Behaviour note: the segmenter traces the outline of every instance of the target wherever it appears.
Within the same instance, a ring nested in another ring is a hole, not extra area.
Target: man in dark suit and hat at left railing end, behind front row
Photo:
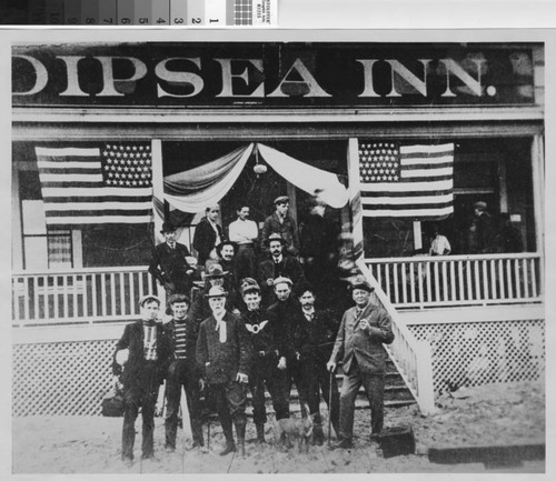
[[[166,241],[155,248],[149,272],[165,287],[168,297],[177,292],[189,294],[193,273],[193,268],[187,261],[189,249],[176,241],[176,227],[172,223],[165,222],[160,232]]]

